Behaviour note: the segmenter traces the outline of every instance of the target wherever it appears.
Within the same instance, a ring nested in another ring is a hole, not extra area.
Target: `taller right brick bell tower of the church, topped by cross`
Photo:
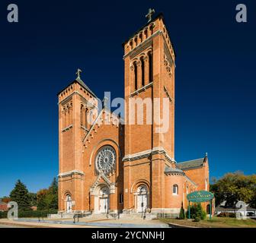
[[[164,17],[123,43],[126,101],[124,209],[162,212],[165,166],[174,166],[175,55]],[[139,188],[143,187],[143,193]],[[145,192],[146,191],[146,192]],[[143,199],[140,193],[146,194]]]

